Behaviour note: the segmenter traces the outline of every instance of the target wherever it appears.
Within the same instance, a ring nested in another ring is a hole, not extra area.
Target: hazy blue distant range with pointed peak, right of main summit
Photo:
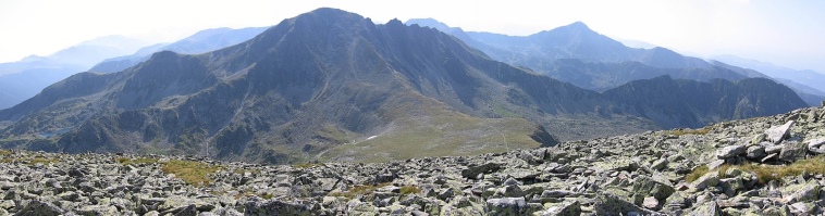
[[[812,88],[825,84],[822,82],[825,81],[825,76],[818,73],[753,66],[754,64],[742,64],[744,61],[732,61],[731,58],[724,56],[717,59],[728,61],[709,62],[699,58],[684,56],[660,47],[629,48],[593,31],[581,22],[529,36],[464,31],[461,28],[450,27],[432,18],[414,18],[407,21],[406,24],[440,29],[490,54],[495,60],[528,67],[555,79],[595,91],[604,91],[631,80],[662,75],[699,81],[715,78],[736,81],[749,77],[762,77],[790,86],[809,105],[818,105],[825,100],[825,93],[822,90]]]

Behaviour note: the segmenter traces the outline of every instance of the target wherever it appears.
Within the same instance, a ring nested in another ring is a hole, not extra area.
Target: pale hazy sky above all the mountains
[[[611,37],[712,56],[825,72],[825,1],[2,0],[0,62],[49,55],[99,36],[173,41],[216,27],[275,25],[321,7],[374,22],[432,17],[465,30],[530,35],[584,22]]]

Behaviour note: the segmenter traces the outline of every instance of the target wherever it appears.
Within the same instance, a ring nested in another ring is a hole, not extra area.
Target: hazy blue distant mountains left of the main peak
[[[266,27],[216,28],[196,33],[173,43],[144,47],[141,40],[107,36],[60,50],[49,56],[28,56],[0,64],[0,109],[11,107],[39,93],[44,88],[79,72],[120,72],[146,61],[152,53],[171,50],[201,53],[237,45]],[[126,55],[128,54],[128,55]]]

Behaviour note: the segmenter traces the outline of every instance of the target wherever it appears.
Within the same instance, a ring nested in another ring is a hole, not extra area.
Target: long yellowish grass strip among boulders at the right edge
[[[743,165],[723,165],[713,171],[719,171],[719,176],[725,176],[727,169],[739,168],[743,171],[753,173],[759,178],[760,183],[766,183],[772,180],[781,181],[785,177],[798,176],[802,173],[825,174],[825,156],[800,160],[788,165],[766,165],[766,164],[743,164]],[[692,182],[697,178],[706,174],[707,167],[700,166],[692,173],[685,176],[685,181]]]

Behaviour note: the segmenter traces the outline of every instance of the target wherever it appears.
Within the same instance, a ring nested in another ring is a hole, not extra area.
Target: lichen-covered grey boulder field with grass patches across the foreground
[[[815,215],[825,109],[469,157],[0,152],[0,215]]]

